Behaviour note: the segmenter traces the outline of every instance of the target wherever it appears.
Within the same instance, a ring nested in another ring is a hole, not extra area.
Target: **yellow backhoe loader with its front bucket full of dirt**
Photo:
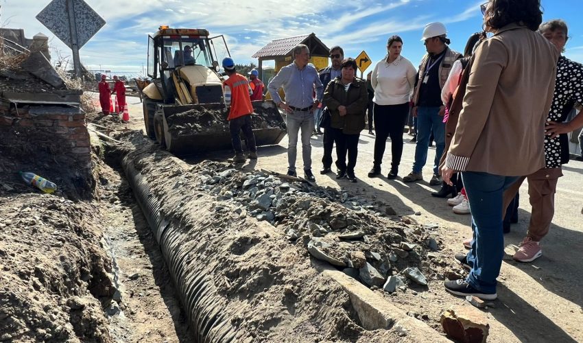
[[[230,148],[219,73],[219,60],[230,56],[224,36],[209,38],[206,29],[160,26],[148,38],[147,74],[154,81],[142,90],[147,135],[174,154]],[[257,145],[279,143],[285,122],[276,105],[252,103]]]

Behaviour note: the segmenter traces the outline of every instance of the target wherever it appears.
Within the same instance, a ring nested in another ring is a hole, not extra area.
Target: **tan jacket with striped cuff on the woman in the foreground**
[[[545,119],[557,49],[541,34],[506,25],[475,51],[463,109],[445,165],[457,171],[523,176],[545,167]]]

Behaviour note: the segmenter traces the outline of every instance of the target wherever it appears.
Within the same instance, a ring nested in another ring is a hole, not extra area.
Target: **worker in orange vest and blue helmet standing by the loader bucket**
[[[251,88],[247,78],[235,69],[233,58],[226,57],[223,59],[223,68],[228,75],[228,79],[223,82],[225,93],[225,104],[229,108],[229,130],[233,149],[235,150],[235,163],[243,163],[246,158],[241,147],[241,138],[239,132],[243,131],[247,140],[249,149],[249,158],[257,160],[257,147],[255,145],[255,136],[251,128],[251,114],[253,106],[251,104]]]

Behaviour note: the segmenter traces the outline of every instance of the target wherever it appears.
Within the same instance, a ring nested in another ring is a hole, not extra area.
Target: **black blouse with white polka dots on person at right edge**
[[[561,56],[557,62],[557,79],[551,110],[547,121],[562,123],[575,106],[583,104],[583,65]],[[545,164],[558,168],[569,162],[567,134],[551,139],[545,136]]]

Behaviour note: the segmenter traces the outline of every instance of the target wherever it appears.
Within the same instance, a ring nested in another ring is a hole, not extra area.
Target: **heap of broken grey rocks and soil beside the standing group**
[[[372,289],[404,291],[412,285],[427,287],[426,275],[443,277],[429,263],[439,256],[437,227],[397,217],[389,204],[331,187],[286,182],[261,171],[245,173],[229,163],[204,161],[193,169],[198,190],[220,200],[215,211],[270,222],[292,244]]]

